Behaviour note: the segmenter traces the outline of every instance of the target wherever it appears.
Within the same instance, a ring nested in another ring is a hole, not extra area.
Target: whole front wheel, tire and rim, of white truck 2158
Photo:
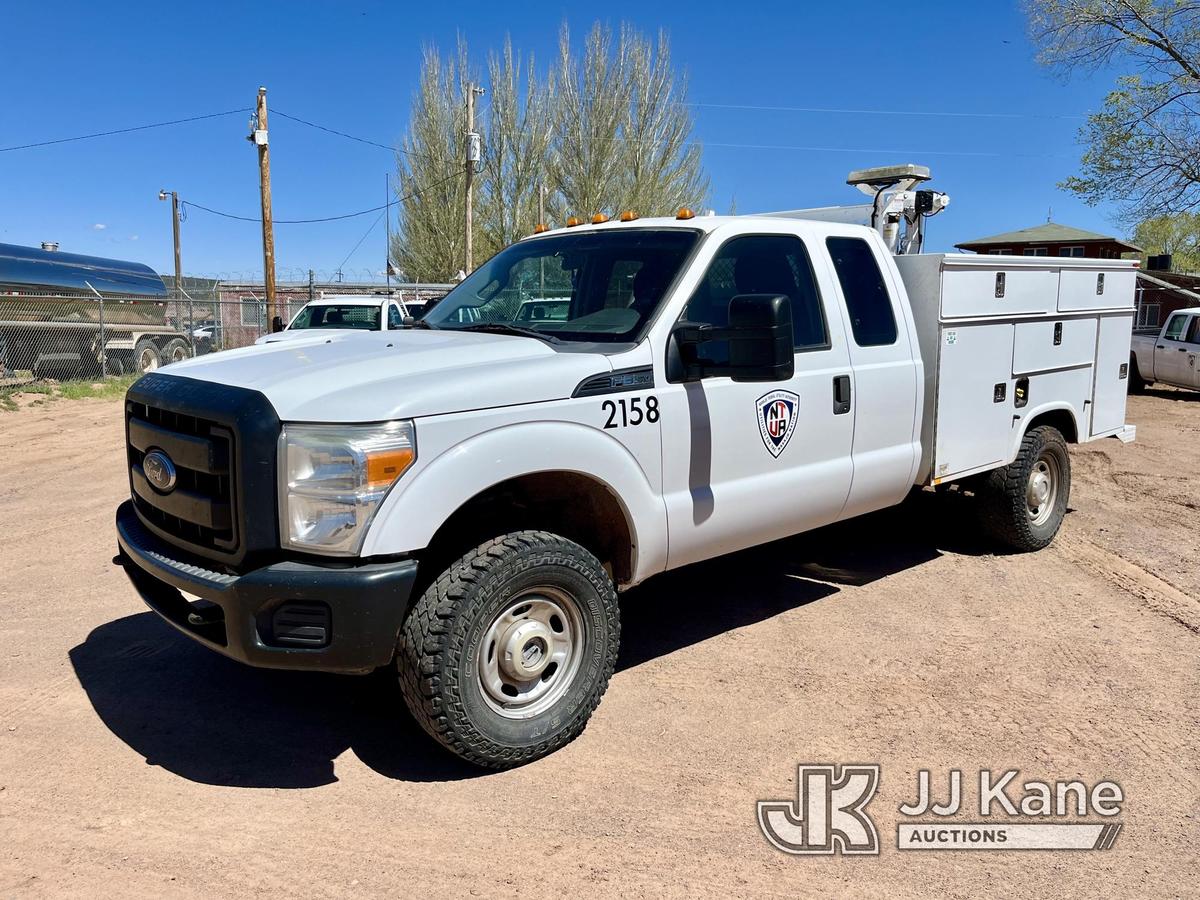
[[[425,731],[468,762],[505,769],[583,731],[619,640],[600,562],[558,535],[516,532],[430,584],[401,630],[396,666]]]

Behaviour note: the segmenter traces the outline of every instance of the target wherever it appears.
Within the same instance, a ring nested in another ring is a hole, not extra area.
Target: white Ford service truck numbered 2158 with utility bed
[[[395,666],[430,734],[502,768],[583,730],[617,592],[667,569],[965,480],[998,541],[1043,547],[1068,444],[1133,438],[1133,264],[920,254],[925,176],[550,230],[403,331],[148,374],[120,562],[234,659]]]

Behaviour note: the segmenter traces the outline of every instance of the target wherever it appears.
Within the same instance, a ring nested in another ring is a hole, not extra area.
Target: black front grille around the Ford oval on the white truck
[[[208,550],[238,550],[233,434],[211,419],[137,401],[126,404],[133,503],[143,518],[169,536]],[[143,461],[161,450],[175,467],[169,492],[145,478]]]

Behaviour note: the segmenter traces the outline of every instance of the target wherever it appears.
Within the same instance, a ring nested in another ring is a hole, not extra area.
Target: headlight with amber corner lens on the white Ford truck
[[[286,546],[354,556],[388,490],[416,458],[410,421],[286,425],[280,438]]]

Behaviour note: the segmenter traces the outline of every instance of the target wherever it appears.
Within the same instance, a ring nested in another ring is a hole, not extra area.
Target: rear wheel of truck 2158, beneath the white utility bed
[[[1016,458],[984,482],[983,524],[1013,550],[1042,550],[1058,533],[1069,498],[1067,442],[1057,428],[1042,425],[1028,431]]]

